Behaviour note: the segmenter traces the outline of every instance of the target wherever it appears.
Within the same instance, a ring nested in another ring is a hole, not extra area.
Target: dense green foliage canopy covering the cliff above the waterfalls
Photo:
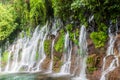
[[[16,31],[28,30],[38,24],[45,24],[52,18],[59,18],[75,44],[78,42],[74,40],[72,32],[77,30],[75,34],[78,36],[80,28],[77,26],[85,25],[96,48],[103,47],[110,22],[118,22],[119,3],[119,0],[2,0],[0,41]]]

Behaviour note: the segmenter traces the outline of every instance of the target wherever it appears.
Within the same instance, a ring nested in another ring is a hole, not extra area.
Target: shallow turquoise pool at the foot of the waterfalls
[[[50,73],[5,73],[0,80],[71,80],[70,75],[52,75]]]

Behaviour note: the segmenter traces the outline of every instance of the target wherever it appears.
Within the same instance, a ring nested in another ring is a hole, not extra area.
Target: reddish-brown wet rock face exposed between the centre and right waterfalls
[[[108,39],[109,40],[109,39]],[[87,68],[86,68],[86,74],[87,78],[89,80],[100,80],[100,77],[102,76],[102,67],[103,67],[103,60],[104,57],[106,56],[106,51],[108,47],[108,41],[106,42],[104,47],[101,48],[95,48],[95,45],[93,41],[88,38],[88,58],[87,58]],[[118,34],[116,36],[116,41],[114,45],[114,53],[117,57],[119,57],[119,44],[120,44],[120,35]],[[74,75],[79,75],[80,72],[80,67],[79,63],[77,62],[78,58],[78,53],[77,50],[79,47],[77,45],[74,45],[72,47],[72,58],[71,58],[71,74]],[[61,53],[54,52],[54,64],[53,64],[53,72],[59,72],[61,65],[62,65],[62,59],[63,56]],[[111,62],[115,59],[115,56],[109,55],[106,57],[106,64],[105,64],[105,69],[107,69]],[[120,58],[119,58],[120,60]],[[43,62],[44,65],[42,66],[43,69],[47,69],[49,63],[50,63],[50,58],[46,58],[46,60]],[[117,65],[117,64],[115,64]],[[106,76],[107,80],[119,80],[119,67],[116,67],[113,71],[110,71]]]

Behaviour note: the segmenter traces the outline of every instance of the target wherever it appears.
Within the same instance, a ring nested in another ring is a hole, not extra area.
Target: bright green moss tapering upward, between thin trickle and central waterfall
[[[62,53],[64,49],[64,31],[60,31],[60,36],[58,37],[57,42],[55,43],[55,51]]]

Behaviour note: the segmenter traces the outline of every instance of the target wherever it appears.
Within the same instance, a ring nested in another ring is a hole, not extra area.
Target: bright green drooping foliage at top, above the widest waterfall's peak
[[[30,0],[30,19],[36,25],[44,24],[46,19],[46,7],[43,0]]]

